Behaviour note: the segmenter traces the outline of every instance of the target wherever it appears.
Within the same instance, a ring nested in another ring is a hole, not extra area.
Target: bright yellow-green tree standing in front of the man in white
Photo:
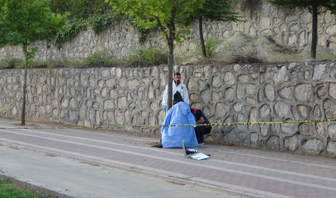
[[[180,42],[186,29],[175,18],[182,12],[194,12],[204,0],[107,0],[114,9],[134,15],[135,23],[146,29],[157,27],[168,44],[168,110],[172,103],[174,40]],[[176,28],[177,27],[177,28]],[[177,30],[178,29],[178,30]]]

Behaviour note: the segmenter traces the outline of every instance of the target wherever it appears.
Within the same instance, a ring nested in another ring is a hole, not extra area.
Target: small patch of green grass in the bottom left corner
[[[38,193],[33,193],[10,184],[7,180],[0,178],[0,197],[1,198],[48,198]]]

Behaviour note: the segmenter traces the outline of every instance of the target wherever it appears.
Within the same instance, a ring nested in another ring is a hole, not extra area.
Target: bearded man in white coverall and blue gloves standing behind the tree
[[[180,73],[174,73],[173,78],[173,100],[174,100],[174,94],[176,91],[180,92],[183,101],[189,104],[189,95],[188,90],[185,84],[181,82],[181,74]],[[163,111],[167,111],[167,98],[168,98],[168,85],[166,86],[165,92],[163,93],[163,99],[162,99],[162,107]]]

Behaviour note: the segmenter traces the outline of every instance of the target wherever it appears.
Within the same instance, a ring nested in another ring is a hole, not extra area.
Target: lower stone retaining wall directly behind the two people
[[[335,63],[180,66],[191,106],[212,123],[336,118]],[[0,107],[23,70],[0,70]],[[30,69],[26,117],[80,126],[158,125],[167,67]],[[0,116],[20,117],[21,99]],[[159,128],[126,128],[159,133]],[[336,123],[214,126],[208,140],[336,154]]]

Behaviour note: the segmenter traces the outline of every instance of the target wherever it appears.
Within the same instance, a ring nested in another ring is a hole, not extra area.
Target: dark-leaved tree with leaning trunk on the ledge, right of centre
[[[239,13],[230,12],[230,8],[231,5],[227,0],[205,0],[203,8],[199,8],[193,13],[186,13],[183,15],[186,17],[186,24],[190,24],[195,19],[198,19],[199,21],[200,41],[203,57],[207,57],[203,37],[203,18],[214,21],[242,21],[242,16]]]

